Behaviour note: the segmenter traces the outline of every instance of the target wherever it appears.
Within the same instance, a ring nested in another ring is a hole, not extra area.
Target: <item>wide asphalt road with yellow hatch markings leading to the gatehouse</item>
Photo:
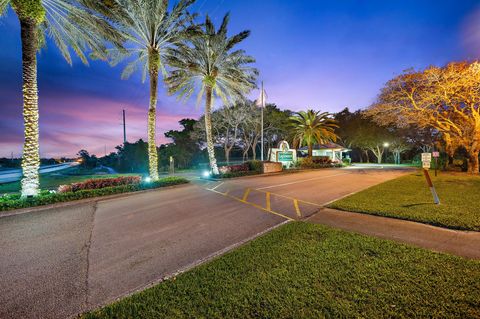
[[[0,318],[65,318],[221,254],[401,170],[328,169],[0,217]]]

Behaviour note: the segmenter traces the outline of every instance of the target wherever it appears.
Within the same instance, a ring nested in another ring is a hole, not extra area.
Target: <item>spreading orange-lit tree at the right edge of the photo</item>
[[[433,128],[450,156],[463,147],[468,171],[479,173],[480,63],[450,63],[413,70],[395,77],[382,89],[368,114],[382,125]]]

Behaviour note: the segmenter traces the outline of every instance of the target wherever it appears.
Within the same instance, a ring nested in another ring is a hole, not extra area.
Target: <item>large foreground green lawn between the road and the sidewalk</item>
[[[84,315],[325,317],[479,318],[480,262],[294,222]]]

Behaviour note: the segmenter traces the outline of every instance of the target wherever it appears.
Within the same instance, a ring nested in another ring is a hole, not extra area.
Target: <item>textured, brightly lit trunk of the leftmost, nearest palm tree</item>
[[[22,38],[23,122],[25,141],[22,159],[22,197],[39,193],[38,169],[38,89],[37,89],[37,23],[33,19],[20,19]]]

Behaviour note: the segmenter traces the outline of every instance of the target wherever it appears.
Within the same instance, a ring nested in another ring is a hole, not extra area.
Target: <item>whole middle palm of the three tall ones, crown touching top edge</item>
[[[180,0],[170,12],[168,0],[103,1],[100,10],[98,5],[95,5],[126,38],[123,48],[107,50],[110,64],[115,66],[125,59],[130,59],[122,72],[122,79],[129,78],[138,69],[142,71],[143,82],[147,74],[149,76],[148,164],[152,180],[158,180],[155,131],[159,73],[167,74],[167,49],[195,31],[195,27],[187,26],[193,19],[187,9],[194,2],[195,0]]]

